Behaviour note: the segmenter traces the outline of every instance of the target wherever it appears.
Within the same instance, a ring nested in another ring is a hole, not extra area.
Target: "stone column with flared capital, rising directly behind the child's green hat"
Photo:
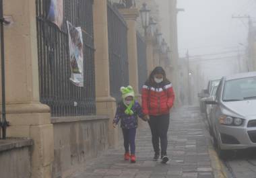
[[[127,53],[129,63],[129,85],[135,91],[135,96],[140,100],[139,84],[138,84],[138,64],[137,64],[137,31],[136,19],[139,17],[138,9],[119,9],[127,23]]]

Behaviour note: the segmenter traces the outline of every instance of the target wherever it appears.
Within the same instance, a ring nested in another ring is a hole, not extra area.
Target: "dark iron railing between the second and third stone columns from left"
[[[129,85],[127,24],[117,7],[108,2],[108,52],[110,95],[121,99],[120,87]]]

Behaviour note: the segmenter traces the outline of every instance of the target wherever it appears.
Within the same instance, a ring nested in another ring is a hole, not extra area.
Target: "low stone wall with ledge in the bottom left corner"
[[[0,140],[0,177],[30,178],[32,140],[7,139]]]

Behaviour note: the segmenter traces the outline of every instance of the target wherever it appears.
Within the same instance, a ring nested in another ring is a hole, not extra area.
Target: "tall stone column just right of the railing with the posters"
[[[94,0],[94,46],[96,78],[96,110],[98,115],[107,115],[108,146],[118,147],[119,128],[113,129],[116,101],[110,96],[109,60],[108,60],[108,16],[107,1]]]

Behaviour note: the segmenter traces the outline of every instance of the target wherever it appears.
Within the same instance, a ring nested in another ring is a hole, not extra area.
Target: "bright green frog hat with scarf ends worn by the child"
[[[134,94],[134,91],[133,91],[133,87],[131,87],[130,85],[127,86],[127,87],[121,87],[120,91],[122,93],[123,103],[127,107],[125,109],[125,114],[133,115],[133,111],[131,110],[131,107],[133,107],[133,105],[134,105],[134,97],[135,97],[135,94]],[[133,101],[129,105],[127,105],[125,103],[125,98],[129,97],[129,96],[133,97]]]

